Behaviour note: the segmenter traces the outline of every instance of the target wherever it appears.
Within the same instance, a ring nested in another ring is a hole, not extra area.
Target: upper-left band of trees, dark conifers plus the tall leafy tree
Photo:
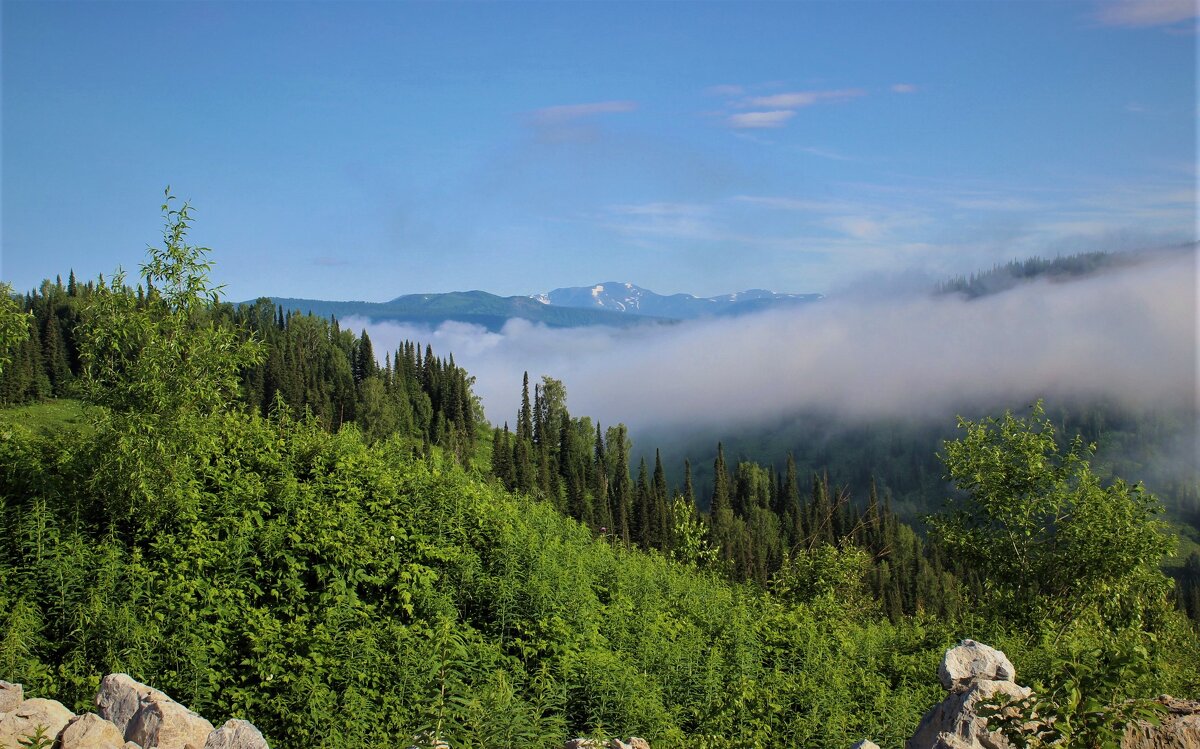
[[[264,415],[282,405],[312,413],[330,430],[354,423],[368,441],[401,435],[410,450],[437,445],[461,461],[474,457],[482,412],[472,378],[452,358],[403,341],[380,366],[366,331],[356,336],[337,320],[287,312],[266,299],[217,302],[220,289],[206,281],[208,250],[186,244],[191,209],[172,209],[168,200],[163,211],[164,246],[151,251],[136,288],[120,271],[112,281],[84,283],[72,272],[65,286],[56,280],[5,296],[13,313],[25,312],[12,317],[25,337],[0,347],[12,362],[0,367],[0,403],[82,396],[118,411],[162,412],[211,409],[215,397],[234,397]],[[168,276],[166,263],[176,260],[205,277],[192,289],[196,300],[180,295],[178,270]],[[185,334],[197,336],[188,350]],[[221,350],[235,353],[236,366],[218,374],[206,367]],[[133,370],[137,378],[126,377]]]

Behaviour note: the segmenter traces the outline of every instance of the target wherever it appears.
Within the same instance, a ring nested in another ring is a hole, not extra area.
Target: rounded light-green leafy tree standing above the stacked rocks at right
[[[995,616],[1034,628],[1096,616],[1124,628],[1160,612],[1171,543],[1153,497],[1120,479],[1102,486],[1094,445],[1075,438],[1060,450],[1040,403],[1028,419],[960,427],[942,460],[962,496],[932,529],[985,581]]]

